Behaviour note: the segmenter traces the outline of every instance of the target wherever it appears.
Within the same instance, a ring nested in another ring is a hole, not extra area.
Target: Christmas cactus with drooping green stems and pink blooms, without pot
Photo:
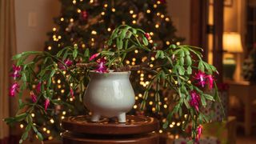
[[[105,42],[105,47],[96,54],[90,55],[86,49],[81,53],[78,46],[65,47],[57,54],[46,51],[27,51],[13,57],[16,64],[13,66],[11,77],[14,78],[10,86],[10,96],[18,94],[18,114],[13,118],[6,118],[8,124],[22,122],[26,124],[26,130],[22,134],[20,142],[25,140],[30,133],[37,134],[43,140],[41,130],[34,123],[33,114],[39,111],[42,114],[54,113],[54,106],[67,106],[74,109],[68,101],[54,96],[53,87],[58,80],[64,78],[70,91],[67,97],[78,98],[82,102],[82,95],[86,90],[86,84],[90,70],[107,74],[112,71],[145,71],[150,76],[150,81],[145,82],[145,92],[142,95],[140,107],[146,109],[149,94],[153,93],[156,111],[161,111],[161,90],[170,90],[173,97],[168,99],[174,105],[163,124],[163,128],[170,125],[172,117],[179,115],[186,118],[182,122],[182,129],[191,126],[191,138],[198,141],[202,134],[202,123],[210,119],[202,114],[202,108],[206,101],[217,101],[218,93],[214,82],[214,74],[217,70],[202,60],[202,49],[196,46],[170,45],[158,50],[150,46],[150,34],[131,26],[118,26],[110,38]],[[150,48],[152,47],[152,48]],[[145,51],[147,56],[139,65],[126,62],[131,53]],[[28,58],[33,56],[33,60]],[[206,94],[204,90],[216,90],[214,95]],[[22,100],[22,92],[29,91],[30,100]],[[150,95],[152,96],[152,95]],[[44,106],[39,103],[44,102]],[[193,142],[191,140],[191,142]]]

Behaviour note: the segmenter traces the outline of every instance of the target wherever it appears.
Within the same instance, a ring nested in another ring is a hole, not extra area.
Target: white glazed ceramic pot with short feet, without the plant
[[[101,116],[118,117],[118,122],[126,122],[126,112],[134,106],[134,90],[130,84],[130,71],[100,74],[90,71],[90,82],[83,102],[92,111],[92,122]]]

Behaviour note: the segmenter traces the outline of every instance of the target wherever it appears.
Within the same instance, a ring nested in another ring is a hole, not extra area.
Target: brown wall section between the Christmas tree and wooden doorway
[[[170,18],[177,28],[177,35],[190,42],[190,0],[166,0]]]

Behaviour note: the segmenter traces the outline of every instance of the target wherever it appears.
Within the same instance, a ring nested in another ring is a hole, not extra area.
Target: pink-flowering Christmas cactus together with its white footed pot
[[[11,74],[14,83],[10,86],[10,96],[18,92],[19,111],[15,117],[6,118],[5,121],[26,123],[20,142],[27,138],[30,130],[34,130],[42,140],[42,134],[33,124],[34,110],[46,114],[51,111],[48,110],[49,105],[70,106],[68,102],[54,97],[52,87],[56,81],[54,77],[58,76],[65,78],[66,86],[70,87],[70,98],[74,97],[74,90],[79,91],[81,97],[86,91],[84,103],[94,113],[92,121],[97,122],[100,116],[118,116],[119,122],[125,122],[125,113],[134,105],[130,71],[143,70],[151,77],[145,83],[141,109],[145,108],[150,91],[154,92],[155,107],[159,111],[160,90],[174,90],[174,108],[170,110],[163,127],[169,126],[174,114],[187,114],[182,127],[191,122],[191,137],[198,140],[202,134],[201,124],[209,122],[201,108],[206,106],[206,100],[218,100],[217,92],[212,96],[203,91],[206,87],[216,89],[213,74],[217,70],[202,60],[202,49],[199,47],[170,45],[164,50],[157,50],[150,48],[149,39],[150,34],[143,30],[122,25],[113,31],[104,49],[97,54],[90,55],[89,50],[81,53],[78,46],[74,46],[63,48],[55,55],[46,51],[27,51],[15,55],[13,59],[16,64]],[[139,65],[130,66],[126,58],[135,50],[146,51],[149,58]],[[30,55],[34,55],[34,59],[28,62]],[[88,81],[89,85],[85,86]],[[24,90],[30,90],[30,102],[22,101]],[[39,102],[45,102],[45,105],[40,106]]]

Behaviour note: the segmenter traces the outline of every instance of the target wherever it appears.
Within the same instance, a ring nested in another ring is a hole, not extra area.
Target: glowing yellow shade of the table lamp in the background
[[[235,32],[224,32],[223,50],[230,53],[242,53],[241,35]]]

